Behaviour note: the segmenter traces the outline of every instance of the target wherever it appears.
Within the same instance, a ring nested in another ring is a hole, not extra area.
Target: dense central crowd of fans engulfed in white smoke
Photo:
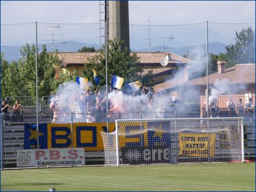
[[[142,87],[132,94],[125,94],[112,87],[108,92],[107,98],[106,92],[101,90],[95,94],[91,90],[75,91],[70,95],[69,100],[62,101],[57,95],[51,99],[50,104],[53,110],[52,122],[70,123],[71,119],[73,123],[106,122],[107,108],[109,122],[114,122],[115,119],[164,118],[164,110],[171,106],[177,107],[180,100],[178,93],[172,92],[171,103],[160,102],[161,94],[151,87]]]

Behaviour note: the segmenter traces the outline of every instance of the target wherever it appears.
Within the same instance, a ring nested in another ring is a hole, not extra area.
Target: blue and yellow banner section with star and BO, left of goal
[[[109,133],[115,123],[109,123]],[[39,125],[40,149],[84,148],[86,151],[104,151],[100,132],[107,132],[106,123],[73,123]],[[37,148],[36,125],[24,124],[24,149]]]

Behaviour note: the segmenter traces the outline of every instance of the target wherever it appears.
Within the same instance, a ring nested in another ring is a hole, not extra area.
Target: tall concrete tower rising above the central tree
[[[125,40],[121,50],[130,50],[129,4],[128,1],[108,1],[109,3],[109,39]]]

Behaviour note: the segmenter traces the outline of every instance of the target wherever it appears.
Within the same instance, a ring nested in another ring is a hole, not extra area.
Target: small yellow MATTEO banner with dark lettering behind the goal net
[[[214,156],[215,133],[179,133],[180,155]]]

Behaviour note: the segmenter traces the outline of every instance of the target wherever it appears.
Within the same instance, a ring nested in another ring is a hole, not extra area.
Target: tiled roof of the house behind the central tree
[[[97,52],[60,52],[57,57],[62,60],[62,66],[78,65],[88,63],[88,58],[93,58]],[[132,53],[131,53],[132,54]],[[174,53],[170,53],[171,60],[168,63],[195,63],[192,60],[186,59]],[[165,57],[165,53],[137,53],[138,62],[141,64],[160,63],[160,60]]]

